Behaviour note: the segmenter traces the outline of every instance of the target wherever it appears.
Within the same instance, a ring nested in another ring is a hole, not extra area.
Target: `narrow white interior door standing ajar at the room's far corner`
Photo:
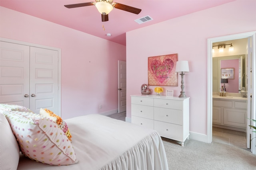
[[[126,61],[118,61],[118,113],[126,111]]]

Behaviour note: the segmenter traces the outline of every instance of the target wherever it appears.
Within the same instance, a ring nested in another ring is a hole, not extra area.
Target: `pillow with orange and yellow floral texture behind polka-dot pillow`
[[[42,109],[42,108],[40,109],[40,115],[43,115],[45,117],[48,117],[49,119],[52,119],[52,121],[54,121],[58,125],[58,127],[60,127],[60,129],[65,133],[68,139],[72,141],[71,140],[72,135],[70,134],[68,125],[64,120],[62,120],[60,116],[54,114],[52,111],[48,109]]]

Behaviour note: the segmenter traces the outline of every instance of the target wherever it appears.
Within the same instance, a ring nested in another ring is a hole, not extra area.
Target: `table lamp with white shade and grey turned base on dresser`
[[[183,76],[185,75],[183,72],[189,72],[189,67],[188,67],[188,61],[177,61],[176,62],[176,69],[175,72],[181,72],[181,92],[179,98],[186,98],[187,96],[185,95],[184,92],[184,80]]]

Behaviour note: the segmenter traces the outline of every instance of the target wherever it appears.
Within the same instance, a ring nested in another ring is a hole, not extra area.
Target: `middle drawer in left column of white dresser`
[[[154,107],[132,104],[132,115],[154,119]]]

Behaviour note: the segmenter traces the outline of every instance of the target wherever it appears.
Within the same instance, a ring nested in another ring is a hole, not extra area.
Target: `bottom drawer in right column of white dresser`
[[[154,121],[154,129],[158,131],[161,136],[168,137],[177,141],[183,141],[183,127],[172,123],[164,123],[161,121]]]

